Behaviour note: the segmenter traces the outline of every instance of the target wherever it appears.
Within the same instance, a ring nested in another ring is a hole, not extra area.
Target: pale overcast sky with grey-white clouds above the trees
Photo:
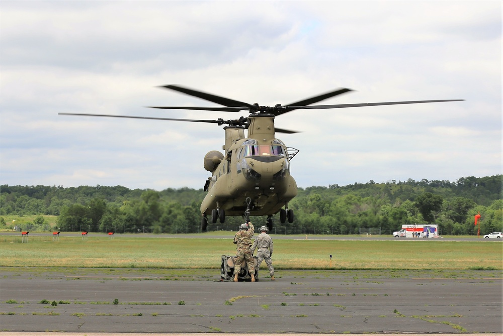
[[[345,87],[278,133],[299,187],[502,173],[501,1],[0,2],[0,184],[202,188],[206,123],[59,112],[231,119],[158,86],[260,105]]]

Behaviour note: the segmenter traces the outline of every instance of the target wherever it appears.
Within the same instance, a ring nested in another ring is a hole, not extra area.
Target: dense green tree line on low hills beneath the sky
[[[357,234],[373,229],[391,234],[402,224],[439,224],[445,235],[503,231],[503,175],[450,181],[387,181],[299,188],[290,201],[292,224],[274,216],[273,233]],[[203,189],[128,189],[123,186],[0,186],[0,216],[55,215],[60,231],[193,233],[201,231]],[[40,221],[40,218],[37,217]],[[265,217],[252,217],[257,227]],[[242,218],[209,224],[235,230]],[[0,218],[0,226],[8,225]]]

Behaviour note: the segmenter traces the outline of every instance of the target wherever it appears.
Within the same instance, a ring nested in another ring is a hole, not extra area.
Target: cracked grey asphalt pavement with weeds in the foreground
[[[233,283],[219,270],[3,267],[0,335],[503,333],[501,271],[266,275]]]

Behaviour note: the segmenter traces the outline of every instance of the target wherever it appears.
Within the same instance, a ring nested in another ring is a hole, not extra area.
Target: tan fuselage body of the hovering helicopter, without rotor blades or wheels
[[[274,115],[252,114],[248,124],[247,138],[243,127],[225,127],[225,155],[215,157],[215,152],[210,152],[205,158],[213,158],[214,165],[205,161],[212,176],[201,204],[203,216],[210,215],[213,209],[240,216],[247,208],[251,216],[272,216],[297,195],[287,147],[274,136]],[[247,198],[251,200],[249,205]]]

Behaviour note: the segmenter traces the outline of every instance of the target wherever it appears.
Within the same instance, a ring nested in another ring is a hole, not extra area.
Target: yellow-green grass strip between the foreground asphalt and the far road
[[[221,255],[235,255],[235,251],[232,237],[60,237],[53,241],[51,236],[33,236],[21,243],[20,236],[0,236],[0,266],[211,269],[220,268]],[[292,270],[503,270],[503,244],[276,239],[273,262],[277,269]]]

